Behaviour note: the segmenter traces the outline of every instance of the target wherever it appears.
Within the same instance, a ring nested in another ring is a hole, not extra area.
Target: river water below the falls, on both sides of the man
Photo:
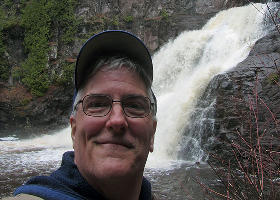
[[[0,138],[0,198],[11,196],[16,187],[35,175],[55,171],[62,154],[73,150],[70,134],[69,127],[57,134],[34,133],[40,136],[31,139],[20,139],[16,135]],[[189,177],[199,178],[209,186],[218,185],[207,164],[184,160],[150,157],[144,176],[152,183],[159,199],[202,199],[200,186]]]

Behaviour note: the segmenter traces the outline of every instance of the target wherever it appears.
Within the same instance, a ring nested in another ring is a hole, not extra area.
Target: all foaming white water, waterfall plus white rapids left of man
[[[255,6],[260,10],[261,7],[266,8],[261,4]],[[191,123],[189,118],[197,99],[215,75],[236,66],[248,56],[250,48],[247,42],[253,44],[267,33],[264,24],[263,15],[251,5],[223,11],[201,30],[182,33],[153,57],[158,125],[155,151],[150,154],[146,165],[147,176],[165,174],[166,171],[169,174],[172,169],[186,163],[177,160],[178,144],[185,126]],[[55,135],[28,140],[19,140],[16,136],[0,138],[3,140],[0,141],[0,174],[9,176],[43,169],[55,170],[60,165],[62,154],[72,150],[70,133],[70,128],[66,128]],[[201,160],[204,152],[199,139],[192,135],[189,139],[196,143],[198,152],[194,159],[189,160],[193,163]],[[163,187],[160,182],[157,184],[159,188]],[[169,183],[165,186],[169,188]]]

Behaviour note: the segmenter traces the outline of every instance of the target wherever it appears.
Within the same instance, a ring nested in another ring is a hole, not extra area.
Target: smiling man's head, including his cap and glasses
[[[145,45],[123,31],[93,36],[78,55],[75,163],[101,193],[108,181],[141,180],[156,130],[152,71]]]

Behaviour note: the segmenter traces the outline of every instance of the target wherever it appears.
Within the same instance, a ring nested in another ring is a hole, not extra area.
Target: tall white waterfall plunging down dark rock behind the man
[[[177,159],[181,145],[189,145],[193,152],[188,159],[203,161],[203,128],[185,129],[196,122],[191,121],[194,108],[213,77],[243,61],[249,44],[271,31],[267,18],[256,8],[267,9],[265,4],[254,4],[222,11],[201,30],[180,34],[153,56],[158,124],[151,159]],[[211,126],[211,119],[201,117],[200,123],[207,119]]]

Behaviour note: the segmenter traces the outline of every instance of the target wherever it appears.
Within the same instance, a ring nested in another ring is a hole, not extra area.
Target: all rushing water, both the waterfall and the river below
[[[265,5],[255,6],[265,9]],[[184,130],[193,123],[190,117],[197,99],[210,80],[244,60],[249,53],[247,42],[253,44],[270,29],[253,6],[233,8],[217,14],[201,30],[182,33],[153,57],[158,128],[145,176],[159,199],[204,199],[200,186],[190,177],[216,190],[220,187],[204,163],[207,155],[200,141],[203,131]],[[177,159],[182,146],[191,146],[186,150],[191,154],[187,160]],[[56,170],[68,150],[72,150],[70,128],[28,139],[16,134],[0,138],[0,197],[12,195],[34,175]]]

